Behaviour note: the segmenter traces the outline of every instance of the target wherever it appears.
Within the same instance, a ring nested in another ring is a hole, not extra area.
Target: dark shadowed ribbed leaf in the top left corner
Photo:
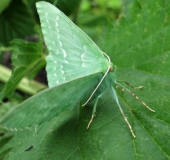
[[[25,38],[34,33],[34,20],[21,0],[13,0],[0,14],[0,43],[8,46],[14,38]]]

